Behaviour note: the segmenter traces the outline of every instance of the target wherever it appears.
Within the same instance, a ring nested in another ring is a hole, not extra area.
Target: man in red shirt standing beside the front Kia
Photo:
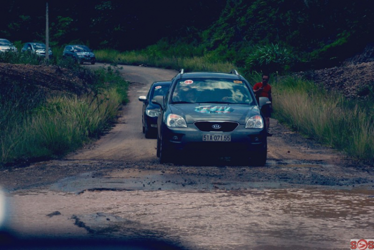
[[[262,82],[256,83],[253,86],[253,92],[256,95],[257,102],[260,97],[267,97],[269,98],[269,101],[273,103],[273,98],[271,97],[271,86],[268,83],[269,82],[269,75],[262,74]],[[270,125],[270,117],[271,117],[271,105],[266,105],[261,110],[265,117],[265,125],[266,130],[269,130]],[[267,132],[267,136],[271,136],[272,134]]]

